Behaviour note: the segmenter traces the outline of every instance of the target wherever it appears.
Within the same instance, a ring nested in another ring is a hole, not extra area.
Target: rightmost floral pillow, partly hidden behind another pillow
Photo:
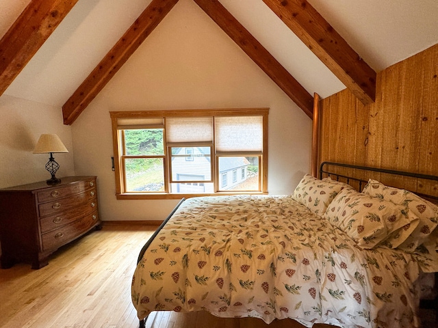
[[[433,244],[433,241],[429,239],[435,240],[436,238],[436,234],[433,234],[433,231],[438,226],[438,206],[424,200],[411,191],[388,187],[381,182],[371,179],[362,192],[372,197],[400,204],[404,206],[405,211],[412,213],[420,219],[420,223],[418,223],[415,230],[407,236],[398,248],[410,253],[417,253],[416,249],[425,242],[427,242],[427,245]]]

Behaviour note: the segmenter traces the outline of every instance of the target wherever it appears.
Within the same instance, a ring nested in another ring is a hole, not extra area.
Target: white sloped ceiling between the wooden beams
[[[0,37],[29,2],[0,0]],[[5,94],[62,107],[149,3],[79,0]],[[310,94],[325,98],[345,88],[263,1],[220,3]],[[438,0],[309,3],[376,72],[438,43]],[[179,4],[172,10],[179,10]]]

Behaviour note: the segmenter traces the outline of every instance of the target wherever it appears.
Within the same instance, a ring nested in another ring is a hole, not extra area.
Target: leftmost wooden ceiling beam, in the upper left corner
[[[0,96],[77,0],[31,0],[0,40]]]

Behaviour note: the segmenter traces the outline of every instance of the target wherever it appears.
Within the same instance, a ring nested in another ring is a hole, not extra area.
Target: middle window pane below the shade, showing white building
[[[171,147],[172,181],[211,181],[210,147]]]

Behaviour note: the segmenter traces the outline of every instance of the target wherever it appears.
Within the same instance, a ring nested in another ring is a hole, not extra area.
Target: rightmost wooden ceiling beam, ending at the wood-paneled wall
[[[263,0],[315,55],[368,105],[376,99],[376,72],[307,0]]]

